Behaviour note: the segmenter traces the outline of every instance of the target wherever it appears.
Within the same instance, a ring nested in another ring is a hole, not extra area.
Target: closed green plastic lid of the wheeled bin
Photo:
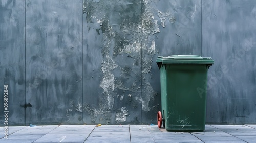
[[[197,55],[172,55],[168,57],[157,56],[157,63],[162,64],[214,64],[211,57]]]

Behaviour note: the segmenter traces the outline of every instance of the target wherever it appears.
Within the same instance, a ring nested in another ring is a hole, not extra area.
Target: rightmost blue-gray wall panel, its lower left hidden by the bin
[[[206,122],[255,123],[255,1],[204,1],[203,56],[212,57]]]

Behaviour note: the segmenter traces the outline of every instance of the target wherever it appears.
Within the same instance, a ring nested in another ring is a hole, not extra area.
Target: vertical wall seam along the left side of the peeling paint
[[[82,1],[82,105],[83,105],[83,0],[81,1]],[[82,122],[84,123],[83,109],[82,109]]]

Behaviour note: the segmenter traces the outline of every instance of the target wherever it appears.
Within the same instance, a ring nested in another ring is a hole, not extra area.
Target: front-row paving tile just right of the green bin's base
[[[243,141],[241,139],[238,139],[237,137],[234,137],[228,133],[205,133],[205,134],[195,134],[197,138],[199,138],[202,141]]]

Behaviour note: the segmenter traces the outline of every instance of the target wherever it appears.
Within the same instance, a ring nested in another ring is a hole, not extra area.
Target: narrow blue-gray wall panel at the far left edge
[[[22,1],[0,2],[0,116],[2,117],[4,85],[8,85],[8,125],[24,125],[25,3]],[[4,123],[2,117],[0,121]]]

